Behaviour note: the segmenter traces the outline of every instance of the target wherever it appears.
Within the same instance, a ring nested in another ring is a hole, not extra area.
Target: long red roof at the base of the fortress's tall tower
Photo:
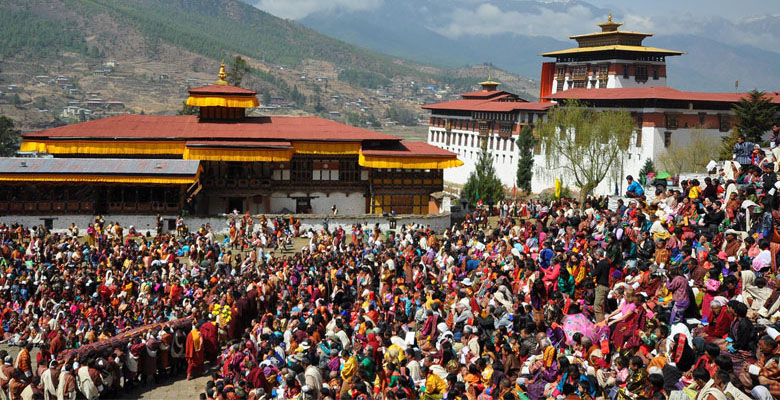
[[[736,103],[747,93],[683,92],[669,87],[570,89],[547,96],[551,100],[680,100]],[[773,103],[780,103],[780,92],[770,92]]]

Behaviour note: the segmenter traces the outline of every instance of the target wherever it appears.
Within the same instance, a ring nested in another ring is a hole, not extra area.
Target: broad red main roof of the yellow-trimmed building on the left
[[[135,115],[97,119],[26,133],[26,139],[285,140],[343,141],[401,139],[318,117],[251,117],[200,122],[195,115]]]

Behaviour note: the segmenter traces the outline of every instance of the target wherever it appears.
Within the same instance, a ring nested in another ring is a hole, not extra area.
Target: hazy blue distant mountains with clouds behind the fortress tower
[[[281,0],[245,1],[285,11],[279,7]],[[300,11],[298,21],[346,42],[417,62],[450,68],[489,62],[532,78],[540,75],[539,53],[575,46],[569,35],[596,31],[596,23],[611,11],[582,0],[375,0],[361,7],[333,3],[343,6]],[[728,91],[739,80],[744,89],[780,89],[776,16],[726,21],[624,14],[624,29],[655,30],[657,36],[647,38],[646,45],[687,53],[667,60],[670,85],[676,88]]]

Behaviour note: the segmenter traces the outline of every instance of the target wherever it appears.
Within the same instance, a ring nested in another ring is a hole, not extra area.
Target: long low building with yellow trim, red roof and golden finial
[[[198,115],[127,114],[24,134],[20,151],[48,158],[0,158],[0,214],[328,214],[337,205],[341,215],[423,215],[440,210],[432,194],[443,171],[463,164],[436,146],[326,119],[247,116],[257,93],[228,85],[224,63],[218,77],[189,90]]]

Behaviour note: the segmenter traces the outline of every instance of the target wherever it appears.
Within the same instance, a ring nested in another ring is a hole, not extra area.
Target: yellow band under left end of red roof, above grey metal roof
[[[184,153],[186,142],[168,141],[92,141],[92,140],[24,140],[20,151],[49,154],[172,154]]]

